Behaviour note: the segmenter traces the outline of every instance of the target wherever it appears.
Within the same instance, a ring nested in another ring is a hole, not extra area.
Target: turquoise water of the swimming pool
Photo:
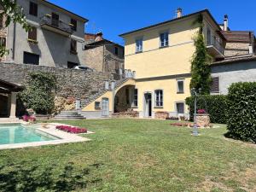
[[[0,144],[32,143],[56,140],[56,137],[38,131],[36,127],[0,125]]]

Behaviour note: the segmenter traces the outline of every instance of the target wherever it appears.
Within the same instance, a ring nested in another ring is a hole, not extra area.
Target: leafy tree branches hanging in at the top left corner
[[[0,0],[0,17],[5,18],[5,27],[9,26],[10,22],[20,23],[20,25],[26,30],[30,29],[30,26],[26,22],[26,16],[23,13],[23,9],[15,3],[14,0]],[[0,45],[0,56],[7,54],[8,49],[2,44]]]

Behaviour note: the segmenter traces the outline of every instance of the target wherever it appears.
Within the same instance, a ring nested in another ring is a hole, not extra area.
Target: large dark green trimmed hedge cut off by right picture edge
[[[231,84],[228,137],[256,143],[256,82]]]

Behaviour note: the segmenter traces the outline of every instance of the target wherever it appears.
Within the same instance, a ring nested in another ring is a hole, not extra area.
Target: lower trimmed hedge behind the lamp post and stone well
[[[189,119],[194,119],[194,101],[195,96],[186,98],[186,104],[189,105]],[[226,124],[228,112],[227,96],[198,96],[197,109],[205,109],[209,113],[211,123]]]

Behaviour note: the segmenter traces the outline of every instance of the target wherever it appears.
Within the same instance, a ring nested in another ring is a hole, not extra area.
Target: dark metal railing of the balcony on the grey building
[[[41,18],[41,25],[54,26],[55,28],[59,28],[62,31],[73,33],[72,26],[61,20],[52,19],[52,17],[47,15],[44,15]]]

